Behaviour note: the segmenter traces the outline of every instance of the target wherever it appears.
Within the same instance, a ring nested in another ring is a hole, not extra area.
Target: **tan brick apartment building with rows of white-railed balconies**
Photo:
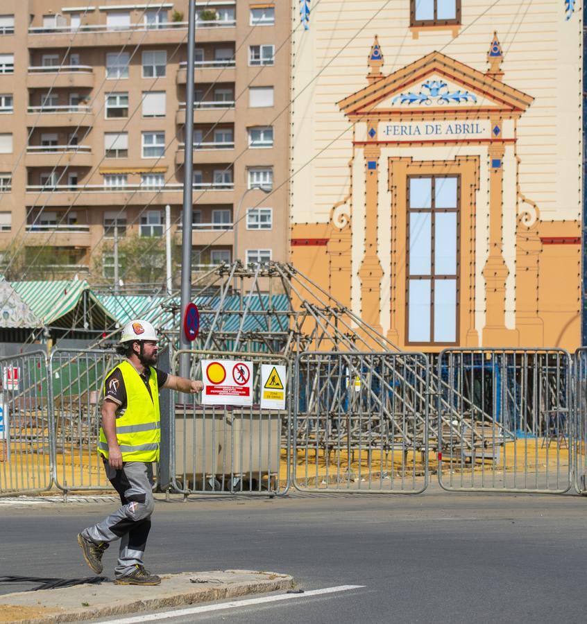
[[[17,249],[109,281],[116,239],[136,281],[124,243],[164,248],[168,205],[181,245],[187,15],[187,0],[3,0],[5,265]],[[192,270],[285,259],[289,12],[219,0],[196,15]],[[142,262],[162,263],[148,248]]]

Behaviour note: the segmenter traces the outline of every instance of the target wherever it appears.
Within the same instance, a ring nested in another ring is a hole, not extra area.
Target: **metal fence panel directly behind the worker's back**
[[[51,353],[53,464],[60,489],[112,488],[97,449],[103,385],[118,361],[110,351],[55,349]]]

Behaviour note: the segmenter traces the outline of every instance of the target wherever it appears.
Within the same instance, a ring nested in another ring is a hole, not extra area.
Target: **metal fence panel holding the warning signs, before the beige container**
[[[291,376],[288,358],[276,354],[178,351],[189,356],[189,378],[203,379],[202,360],[253,363],[253,406],[203,405],[201,395],[175,393],[171,418],[171,482],[183,494],[284,495],[289,489]],[[261,364],[287,370],[287,410],[260,408]],[[177,372],[174,372],[177,374]]]

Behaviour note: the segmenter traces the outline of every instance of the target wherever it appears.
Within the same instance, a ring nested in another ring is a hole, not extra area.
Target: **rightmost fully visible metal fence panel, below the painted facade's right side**
[[[570,356],[563,349],[439,355],[439,483],[449,490],[567,492]]]

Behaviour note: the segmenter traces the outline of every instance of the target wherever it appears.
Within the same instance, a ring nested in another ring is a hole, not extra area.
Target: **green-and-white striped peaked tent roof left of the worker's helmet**
[[[105,331],[116,323],[83,279],[13,281],[11,286],[45,327]]]

